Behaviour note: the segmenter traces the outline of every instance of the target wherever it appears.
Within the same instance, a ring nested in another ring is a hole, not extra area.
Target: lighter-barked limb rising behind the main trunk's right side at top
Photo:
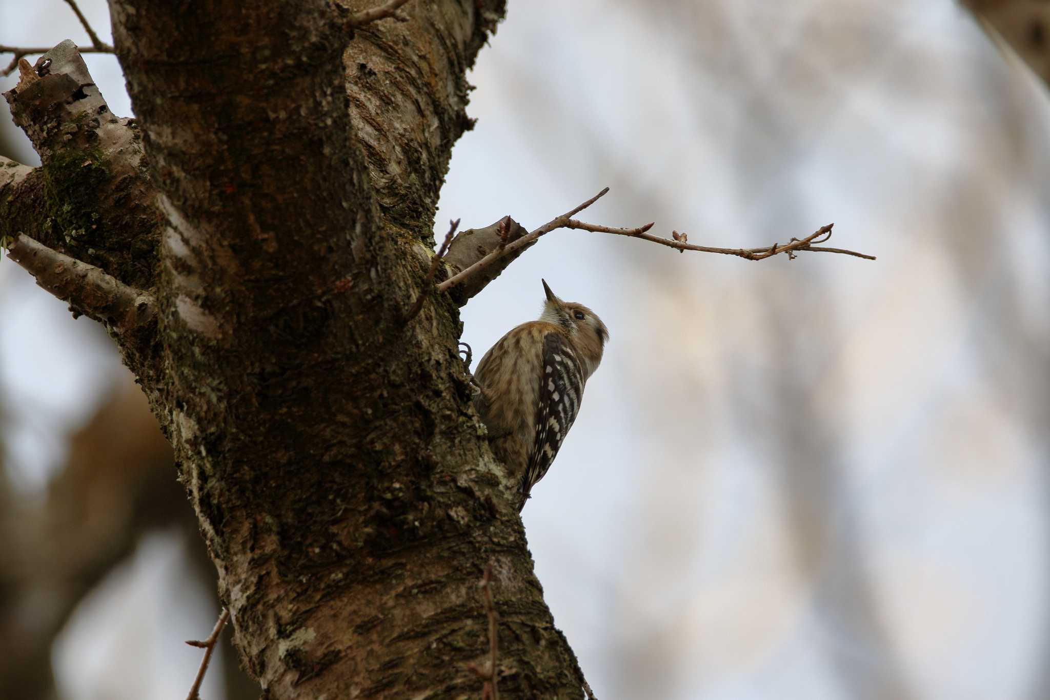
[[[343,56],[376,201],[387,225],[424,242],[453,144],[474,126],[466,69],[495,31],[503,4],[413,2],[406,7],[412,22],[359,27]]]

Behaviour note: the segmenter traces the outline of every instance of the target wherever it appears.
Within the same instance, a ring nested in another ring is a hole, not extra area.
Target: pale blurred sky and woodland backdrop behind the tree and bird
[[[0,3],[0,43],[65,38]],[[541,276],[611,331],[524,514],[598,697],[1050,698],[1046,86],[951,0],[512,0],[470,81],[439,232],[608,185],[586,220],[879,258],[558,231],[464,309],[475,357]],[[38,162],[5,104],[0,152]],[[8,260],[0,358],[0,698],[184,697],[214,573],[145,400]],[[255,697],[219,654],[204,697]]]

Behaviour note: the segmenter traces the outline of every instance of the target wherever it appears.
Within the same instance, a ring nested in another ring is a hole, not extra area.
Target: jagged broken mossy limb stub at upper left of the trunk
[[[0,176],[2,231],[151,287],[161,216],[135,120],[109,110],[71,41],[20,71],[4,97],[42,165],[6,186]]]

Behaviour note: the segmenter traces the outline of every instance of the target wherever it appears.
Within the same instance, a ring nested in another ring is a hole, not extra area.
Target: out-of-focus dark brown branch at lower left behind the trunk
[[[215,571],[175,480],[171,447],[146,397],[126,378],[70,437],[68,459],[46,497],[24,497],[6,473],[0,479],[0,698],[58,697],[50,661],[56,636],[147,531],[181,525],[189,551],[197,553],[190,575],[206,577],[206,590],[214,591]],[[244,687],[228,643],[223,658],[228,687]],[[248,687],[228,693],[228,700],[257,695]]]

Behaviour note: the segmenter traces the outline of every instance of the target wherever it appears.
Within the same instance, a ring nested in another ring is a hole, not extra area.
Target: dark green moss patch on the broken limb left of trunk
[[[58,227],[67,242],[88,238],[98,225],[96,197],[109,177],[98,148],[61,151],[43,167],[44,207],[48,224]]]

